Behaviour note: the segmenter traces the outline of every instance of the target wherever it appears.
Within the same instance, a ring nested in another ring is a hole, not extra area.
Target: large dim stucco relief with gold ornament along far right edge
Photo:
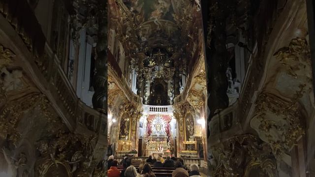
[[[290,149],[305,134],[306,114],[314,105],[307,40],[292,39],[274,57],[278,69],[257,96],[250,124],[259,138],[270,144],[278,162],[291,166]]]

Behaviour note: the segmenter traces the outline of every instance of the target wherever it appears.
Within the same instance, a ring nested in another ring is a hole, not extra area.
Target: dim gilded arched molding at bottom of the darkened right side
[[[214,158],[210,159],[209,170],[214,177],[249,177],[255,169],[257,175],[278,177],[276,159],[270,155],[266,143],[251,134],[238,135],[211,148]]]

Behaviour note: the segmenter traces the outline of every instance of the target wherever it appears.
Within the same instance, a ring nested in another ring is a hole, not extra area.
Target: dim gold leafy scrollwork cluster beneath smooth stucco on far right
[[[257,116],[255,119],[260,121],[258,128],[266,136],[274,155],[278,158],[281,158],[282,154],[290,149],[296,140],[305,133],[301,125],[300,118],[302,118],[302,115],[299,112],[299,104],[297,102],[299,95],[299,91],[297,91],[296,98],[289,101],[281,99],[272,93],[261,93],[257,98],[255,106]],[[279,118],[277,122],[284,122],[287,128],[267,118],[267,112],[277,116]],[[277,133],[283,138],[276,140],[271,129],[277,129]]]

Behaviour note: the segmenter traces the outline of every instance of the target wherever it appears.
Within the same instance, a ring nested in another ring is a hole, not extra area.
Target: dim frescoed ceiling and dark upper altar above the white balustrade
[[[189,60],[198,46],[202,29],[199,1],[109,0],[109,5],[110,28],[115,29],[123,44],[126,59],[138,73],[137,79],[143,81],[145,88],[163,85],[165,90],[171,90],[158,96],[154,87],[139,89],[143,88],[140,83],[137,94],[143,96],[145,104],[152,96],[153,100],[162,97],[168,99],[162,101],[164,104],[172,104],[179,94],[177,85],[182,74],[188,75]]]

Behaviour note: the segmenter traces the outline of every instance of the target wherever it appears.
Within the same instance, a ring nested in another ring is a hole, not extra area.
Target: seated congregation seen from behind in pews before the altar
[[[161,171],[171,172],[171,177],[201,177],[199,174],[199,167],[196,164],[190,165],[188,169],[184,165],[182,158],[167,156],[166,160],[162,156],[143,159],[141,162],[132,161],[130,157],[125,157],[119,164],[114,156],[109,156],[107,162],[107,176],[108,177],[160,177]],[[169,174],[170,175],[170,174]]]

